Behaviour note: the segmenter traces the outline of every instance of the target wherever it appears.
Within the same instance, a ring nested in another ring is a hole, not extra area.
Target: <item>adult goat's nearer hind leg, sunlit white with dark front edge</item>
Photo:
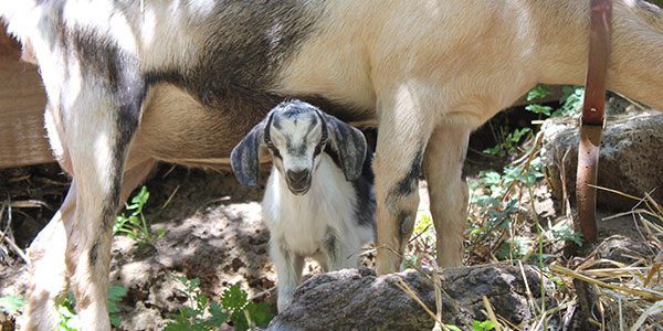
[[[83,330],[110,327],[106,301],[113,220],[141,102],[114,95],[95,83],[64,110],[70,117],[66,141],[77,189],[66,264]]]

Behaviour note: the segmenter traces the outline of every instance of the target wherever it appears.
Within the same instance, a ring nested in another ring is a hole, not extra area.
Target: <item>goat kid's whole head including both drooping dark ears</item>
[[[336,153],[346,180],[361,175],[366,158],[364,134],[313,105],[288,100],[274,107],[235,146],[231,166],[242,184],[256,186],[259,159],[271,154],[290,191],[301,195],[308,192],[326,147]]]

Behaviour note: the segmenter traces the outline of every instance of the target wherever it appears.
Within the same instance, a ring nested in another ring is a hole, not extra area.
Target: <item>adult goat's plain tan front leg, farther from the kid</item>
[[[460,266],[463,259],[467,184],[461,177],[470,131],[462,127],[438,127],[423,159],[441,267]]]

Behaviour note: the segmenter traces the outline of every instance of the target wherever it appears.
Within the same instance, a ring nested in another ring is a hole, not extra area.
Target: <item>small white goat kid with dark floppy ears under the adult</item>
[[[276,106],[232,150],[240,182],[257,184],[266,152],[274,166],[262,206],[282,311],[305,257],[325,271],[358,266],[358,250],[373,238],[373,177],[361,131],[299,100]]]

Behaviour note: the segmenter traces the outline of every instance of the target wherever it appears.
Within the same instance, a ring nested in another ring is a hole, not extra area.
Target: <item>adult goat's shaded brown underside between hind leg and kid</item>
[[[232,147],[263,116],[242,110],[212,109],[175,85],[159,84],[150,88],[131,150],[138,158],[192,167],[229,164]]]

